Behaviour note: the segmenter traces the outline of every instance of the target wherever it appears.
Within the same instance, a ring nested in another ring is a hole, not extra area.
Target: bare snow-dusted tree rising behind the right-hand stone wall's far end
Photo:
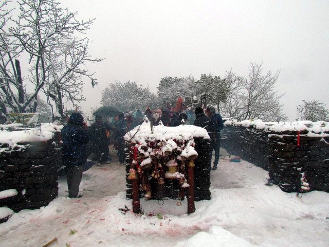
[[[263,74],[262,64],[251,63],[249,77],[237,77],[229,72],[226,80],[229,86],[229,94],[222,104],[223,115],[236,119],[260,118],[265,121],[286,120],[283,114],[283,104],[275,91],[275,83],[278,80],[280,71],[272,75],[269,70]]]

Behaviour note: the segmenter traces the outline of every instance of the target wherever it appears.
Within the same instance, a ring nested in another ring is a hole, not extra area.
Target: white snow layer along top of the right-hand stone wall
[[[329,122],[325,121],[296,121],[296,122],[263,122],[260,119],[257,120],[244,120],[237,121],[235,119],[229,119],[224,122],[225,126],[243,126],[246,128],[253,127],[266,132],[285,132],[285,131],[306,131],[308,133],[320,134],[328,136],[329,134]]]

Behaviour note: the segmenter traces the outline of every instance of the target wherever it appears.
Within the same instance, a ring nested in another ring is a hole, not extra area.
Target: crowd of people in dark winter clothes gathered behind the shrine
[[[209,170],[216,170],[221,146],[221,130],[224,127],[222,116],[215,112],[213,107],[206,109],[196,107],[195,110],[147,108],[144,112],[136,110],[133,113],[118,113],[111,121],[103,119],[101,115],[95,116],[95,122],[87,127],[82,115],[72,113],[67,125],[62,129],[62,154],[63,165],[66,166],[68,197],[81,197],[79,185],[82,178],[83,165],[87,157],[93,155],[93,160],[98,164],[109,163],[112,159],[108,146],[111,142],[117,150],[118,160],[121,164],[125,160],[124,135],[133,128],[141,125],[145,118],[153,126],[160,123],[164,126],[174,127],[185,123],[188,119],[195,126],[205,128],[211,140],[211,154],[215,151],[215,159]],[[211,157],[211,154],[209,155]]]

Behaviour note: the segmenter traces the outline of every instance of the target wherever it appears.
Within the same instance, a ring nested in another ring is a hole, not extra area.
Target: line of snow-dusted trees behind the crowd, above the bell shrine
[[[207,104],[213,105],[225,117],[235,119],[263,119],[265,121],[286,120],[283,104],[275,91],[275,83],[279,71],[263,73],[262,64],[250,64],[249,77],[236,76],[232,71],[224,77],[206,75],[196,80],[188,77],[164,77],[157,87],[157,95],[150,92],[149,87],[138,87],[136,83],[116,82],[110,84],[102,93],[102,105],[114,105],[121,111],[136,108],[145,110],[174,106],[178,97],[190,100],[193,96],[205,95]]]

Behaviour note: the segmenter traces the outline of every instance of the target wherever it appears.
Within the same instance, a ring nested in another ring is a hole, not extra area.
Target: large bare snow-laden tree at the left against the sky
[[[21,55],[23,58],[23,54],[28,56],[30,67],[25,80],[33,84],[34,89],[31,97],[24,103],[16,100],[14,93],[11,94],[14,101],[11,108],[13,111],[23,112],[30,106],[29,111],[35,112],[38,94],[44,92],[47,102],[52,109],[56,109],[52,112],[58,112],[64,118],[63,97],[76,104],[84,100],[82,78],[87,77],[93,85],[96,84],[94,74],[89,73],[84,65],[86,62],[99,62],[101,59],[88,55],[86,38],[76,37],[76,34],[85,33],[94,20],[80,22],[76,19],[77,13],[61,8],[54,0],[22,0],[18,3],[20,13],[12,20],[4,35],[9,41],[6,42],[7,46],[16,51],[15,57]],[[12,57],[9,57],[8,61],[8,64],[14,64]],[[16,78],[19,78],[17,66],[15,70],[11,69],[11,74],[6,67],[4,70],[7,89],[13,86],[13,82],[19,84],[15,79],[16,74]],[[6,76],[6,73],[9,76]],[[22,76],[20,78],[22,79]],[[25,87],[22,87],[25,91]]]

